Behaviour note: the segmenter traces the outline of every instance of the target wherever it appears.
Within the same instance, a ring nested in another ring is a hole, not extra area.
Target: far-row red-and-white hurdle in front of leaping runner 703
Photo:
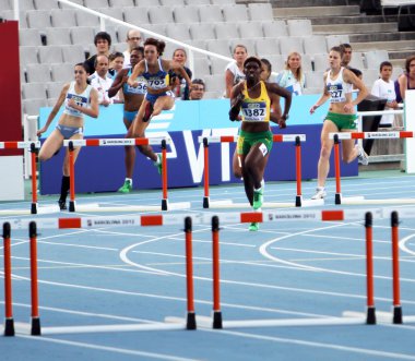
[[[168,210],[168,195],[167,195],[167,144],[170,144],[169,137],[139,137],[139,139],[88,139],[88,140],[66,140],[63,145],[69,149],[69,167],[70,167],[70,202],[69,212],[75,212],[75,169],[73,151],[79,146],[134,146],[134,145],[161,145],[162,146],[162,206],[161,207],[145,207],[145,206],[129,206],[128,209],[123,207],[111,207],[111,209],[92,209],[98,212],[145,212],[145,210]],[[181,202],[173,205],[174,209],[190,208],[189,202]],[[84,212],[88,209],[83,209]]]

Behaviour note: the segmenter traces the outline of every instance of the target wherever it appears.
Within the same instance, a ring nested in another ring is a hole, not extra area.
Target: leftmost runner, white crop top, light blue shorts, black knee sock
[[[45,141],[39,152],[39,160],[45,161],[58,154],[63,145],[63,140],[83,139],[84,115],[97,118],[99,113],[98,92],[86,83],[87,69],[84,63],[79,63],[74,69],[75,80],[63,86],[59,98],[51,110],[44,128],[37,131],[37,136],[45,133],[60,107],[64,103],[64,110],[60,116],[58,125]],[[73,151],[74,160],[76,160],[81,148]],[[69,149],[67,149],[63,161],[63,177],[58,201],[61,210],[68,209],[67,196],[69,191]]]

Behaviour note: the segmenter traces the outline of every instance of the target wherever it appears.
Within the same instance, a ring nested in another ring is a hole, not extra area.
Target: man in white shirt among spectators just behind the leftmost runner
[[[108,107],[112,103],[119,103],[119,99],[112,99],[108,96],[108,89],[112,85],[112,79],[108,74],[109,61],[107,56],[98,56],[95,59],[95,73],[90,75],[91,85],[98,91],[98,104]]]

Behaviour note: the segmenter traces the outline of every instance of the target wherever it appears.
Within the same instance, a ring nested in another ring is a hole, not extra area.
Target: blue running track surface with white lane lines
[[[415,198],[415,177],[344,180],[343,194],[366,198]],[[315,183],[304,183],[305,198]],[[334,183],[318,209],[415,205],[335,206]],[[268,183],[266,202],[294,202],[295,183]],[[191,202],[185,213],[203,210],[203,190],[169,192],[169,202]],[[211,190],[212,200],[245,202],[242,185]],[[44,198],[40,203],[51,204]],[[82,196],[78,204],[158,205],[161,192]],[[28,207],[0,204],[0,209]],[[236,212],[236,209],[232,209]],[[181,210],[180,213],[183,213]],[[80,214],[78,214],[80,215]],[[82,214],[86,215],[86,214]],[[87,216],[103,216],[88,213]],[[108,215],[108,214],[105,214]],[[66,214],[37,217],[64,217]],[[73,216],[73,215],[72,215]],[[33,216],[20,216],[33,218]],[[5,220],[8,217],[1,218]],[[11,216],[15,218],[15,216]],[[221,300],[225,321],[321,318],[344,311],[365,313],[366,263],[363,221],[281,221],[221,225]],[[42,230],[38,236],[42,326],[163,323],[186,315],[185,238],[181,226]],[[401,299],[415,315],[415,219],[400,225]],[[2,252],[1,252],[2,253]],[[390,219],[374,220],[375,301],[392,306]],[[1,256],[2,262],[2,256]],[[193,227],[197,315],[212,312],[211,227]],[[13,303],[16,329],[29,321],[27,231],[12,231]],[[0,268],[2,270],[2,267]],[[2,274],[0,274],[2,277]],[[3,279],[1,279],[2,281]],[[3,311],[3,288],[0,289]],[[20,329],[20,328],[19,328]],[[1,360],[415,360],[415,323],[245,327],[215,330],[108,332],[0,337]]]

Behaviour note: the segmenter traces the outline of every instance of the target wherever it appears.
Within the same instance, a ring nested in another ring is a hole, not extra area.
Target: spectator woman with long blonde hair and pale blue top
[[[288,55],[285,69],[278,75],[277,83],[281,87],[293,93],[293,95],[303,94],[306,76],[301,68],[301,56],[297,51],[293,51]]]

